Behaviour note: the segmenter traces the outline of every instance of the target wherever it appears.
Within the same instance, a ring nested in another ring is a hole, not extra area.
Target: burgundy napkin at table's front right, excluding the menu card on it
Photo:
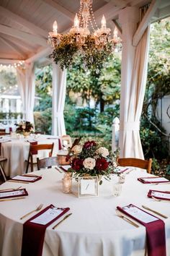
[[[130,204],[129,206],[135,206]],[[135,206],[136,207],[136,206]],[[138,208],[138,207],[136,207]],[[131,216],[125,210],[123,210],[120,206],[117,206],[117,209],[122,213],[125,213],[130,218],[133,218],[135,221],[138,221],[143,226],[146,227],[146,239],[147,239],[147,247],[148,247],[148,256],[166,256],[166,236],[165,236],[165,224],[164,221],[158,218],[156,221],[152,221],[150,223],[145,223],[143,221],[139,221],[138,218]],[[140,208],[138,208],[140,209]],[[140,209],[141,210],[141,209]],[[147,213],[145,210],[143,212]],[[152,214],[148,213],[153,216]],[[156,216],[153,216],[156,217]],[[157,218],[157,217],[156,217]]]

